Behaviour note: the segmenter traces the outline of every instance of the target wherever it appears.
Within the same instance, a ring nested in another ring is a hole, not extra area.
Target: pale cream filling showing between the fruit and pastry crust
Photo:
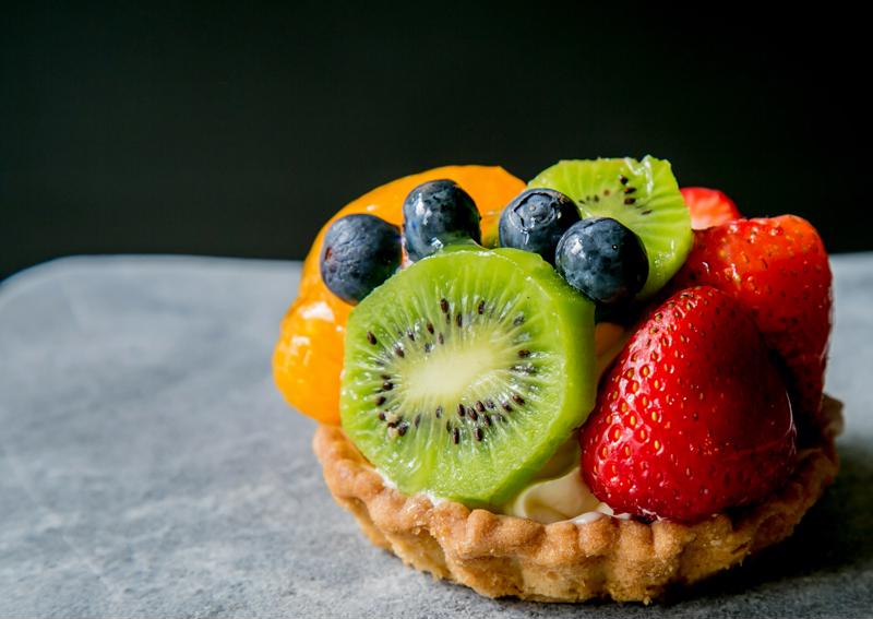
[[[596,382],[618,356],[627,341],[629,332],[618,324],[601,322],[595,328]],[[499,508],[505,515],[527,517],[542,524],[571,521],[577,524],[594,522],[610,516],[627,519],[629,514],[617,514],[612,508],[594,496],[582,478],[582,450],[578,430],[558,449],[534,478],[522,490]],[[382,471],[375,469],[387,488],[397,485]],[[432,492],[418,492],[438,505],[446,499]]]

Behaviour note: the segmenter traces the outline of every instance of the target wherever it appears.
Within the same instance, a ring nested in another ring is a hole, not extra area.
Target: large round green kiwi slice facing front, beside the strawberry
[[[539,255],[450,249],[351,312],[343,427],[400,491],[511,498],[587,417],[594,305]]]

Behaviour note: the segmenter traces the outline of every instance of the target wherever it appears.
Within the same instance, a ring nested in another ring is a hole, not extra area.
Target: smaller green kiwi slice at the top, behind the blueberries
[[[670,162],[646,156],[571,159],[542,170],[530,187],[572,198],[582,217],[612,217],[643,240],[648,278],[638,298],[650,297],[679,271],[691,250],[691,216]]]

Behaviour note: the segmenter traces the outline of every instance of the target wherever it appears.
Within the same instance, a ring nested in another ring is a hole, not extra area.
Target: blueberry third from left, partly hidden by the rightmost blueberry
[[[554,264],[554,249],[566,229],[579,221],[576,204],[553,189],[528,189],[500,215],[500,246],[539,253]]]

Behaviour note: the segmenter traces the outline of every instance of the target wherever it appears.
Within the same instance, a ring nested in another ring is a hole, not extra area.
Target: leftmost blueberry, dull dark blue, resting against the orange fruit
[[[400,265],[400,233],[374,215],[346,215],[327,228],[321,278],[334,295],[357,303]]]

